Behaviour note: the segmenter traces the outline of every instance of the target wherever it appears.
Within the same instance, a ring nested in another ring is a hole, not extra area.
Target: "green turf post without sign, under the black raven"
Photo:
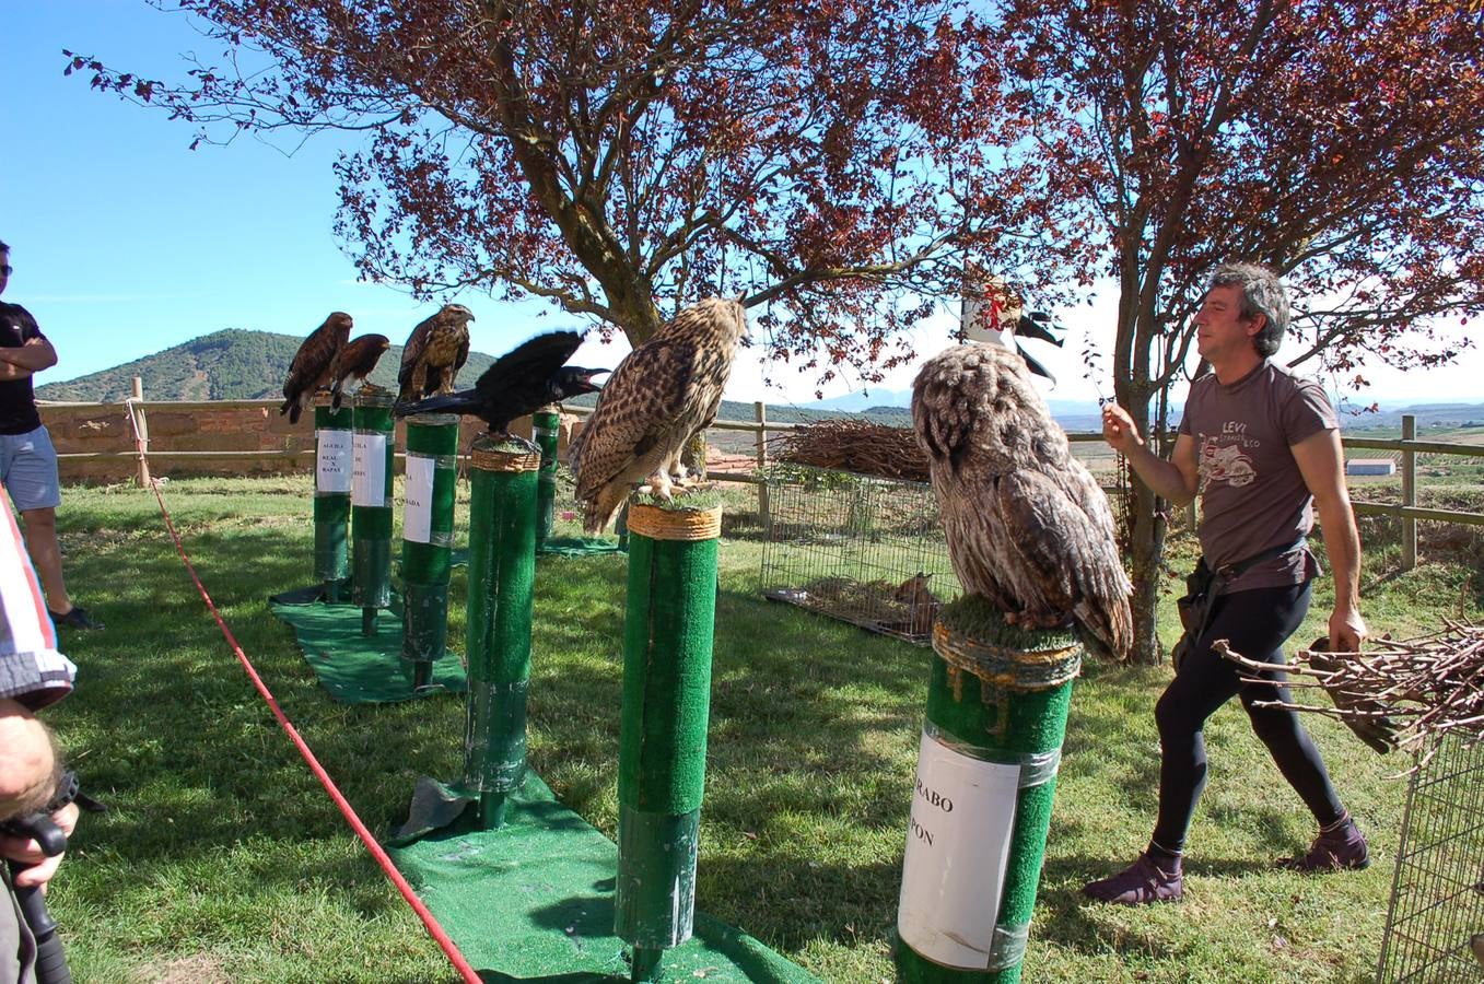
[[[463,787],[479,796],[479,824],[505,822],[525,778],[525,692],[531,677],[536,586],[536,475],[540,456],[503,438],[473,442],[469,500],[469,714]]]

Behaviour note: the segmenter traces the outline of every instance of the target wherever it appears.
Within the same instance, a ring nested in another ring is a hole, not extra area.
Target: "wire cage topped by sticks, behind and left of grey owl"
[[[930,485],[804,465],[763,478],[764,597],[930,641],[938,609],[960,594]]]

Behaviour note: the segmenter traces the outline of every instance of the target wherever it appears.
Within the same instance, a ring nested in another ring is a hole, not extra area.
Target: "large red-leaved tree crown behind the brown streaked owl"
[[[962,292],[966,257],[1024,249],[997,234],[990,31],[956,0],[171,9],[223,42],[220,65],[174,85],[70,70],[197,142],[364,131],[337,232],[364,276],[418,294],[543,297],[635,344],[741,295],[775,356],[874,380],[911,358],[923,298]]]

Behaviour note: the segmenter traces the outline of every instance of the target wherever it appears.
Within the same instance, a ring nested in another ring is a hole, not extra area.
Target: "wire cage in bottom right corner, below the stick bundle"
[[[1484,934],[1484,739],[1451,735],[1411,776],[1376,977],[1477,984],[1475,934]]]

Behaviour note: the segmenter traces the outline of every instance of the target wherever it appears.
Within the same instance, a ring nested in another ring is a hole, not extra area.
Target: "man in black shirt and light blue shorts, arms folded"
[[[0,294],[10,279],[10,246],[0,242]],[[42,334],[31,312],[0,301],[0,482],[25,522],[25,548],[42,579],[46,609],[58,626],[99,629],[88,611],[73,604],[62,580],[56,545],[56,506],[62,502],[52,435],[42,426],[31,392],[31,374],[56,365],[56,349]]]

